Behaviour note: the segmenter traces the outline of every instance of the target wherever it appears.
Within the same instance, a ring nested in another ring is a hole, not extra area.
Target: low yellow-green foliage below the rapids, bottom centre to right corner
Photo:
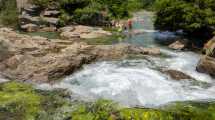
[[[111,101],[83,104],[72,120],[215,120],[214,102],[177,102],[157,109],[120,108]]]

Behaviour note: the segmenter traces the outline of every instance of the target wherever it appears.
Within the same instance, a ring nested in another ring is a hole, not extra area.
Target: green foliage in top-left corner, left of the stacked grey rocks
[[[0,1],[0,24],[16,27],[18,24],[18,13],[16,0]]]

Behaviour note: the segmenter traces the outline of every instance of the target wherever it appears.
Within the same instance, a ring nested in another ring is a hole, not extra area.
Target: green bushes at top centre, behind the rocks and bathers
[[[55,5],[61,9],[61,25],[69,22],[108,25],[111,19],[130,17],[130,11],[141,8],[140,0],[33,0],[44,8]]]

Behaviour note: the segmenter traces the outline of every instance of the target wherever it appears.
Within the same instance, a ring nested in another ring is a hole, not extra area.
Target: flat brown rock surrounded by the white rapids
[[[194,80],[191,76],[178,70],[162,70],[162,72],[169,75],[174,80]]]

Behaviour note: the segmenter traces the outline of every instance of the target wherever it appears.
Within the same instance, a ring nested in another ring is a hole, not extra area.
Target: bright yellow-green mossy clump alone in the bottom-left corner
[[[40,102],[41,96],[35,94],[29,85],[16,82],[1,85],[0,109],[5,114],[19,115],[10,116],[14,119],[33,120],[41,109]]]

